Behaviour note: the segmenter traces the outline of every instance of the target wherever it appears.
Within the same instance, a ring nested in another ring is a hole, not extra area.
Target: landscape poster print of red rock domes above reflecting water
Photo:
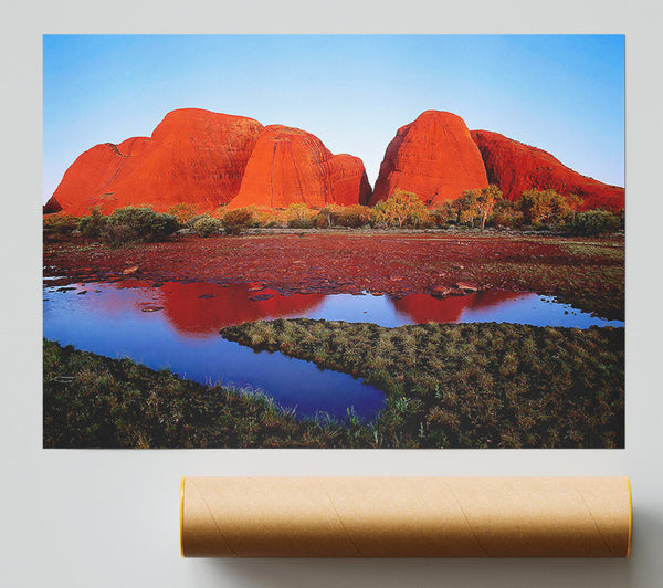
[[[48,448],[622,448],[624,38],[45,35]]]

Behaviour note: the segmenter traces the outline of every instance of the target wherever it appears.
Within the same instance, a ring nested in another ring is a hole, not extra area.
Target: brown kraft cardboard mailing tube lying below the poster
[[[628,557],[628,477],[186,477],[182,556]]]

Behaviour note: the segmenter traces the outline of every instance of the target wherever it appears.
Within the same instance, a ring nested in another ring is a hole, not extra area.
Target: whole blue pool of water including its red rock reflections
[[[394,327],[413,323],[512,322],[532,325],[623,326],[581,313],[533,293],[478,292],[434,298],[295,294],[250,284],[165,283],[137,280],[44,287],[44,336],[107,357],[129,357],[200,382],[260,388],[297,413],[318,411],[344,418],[349,407],[372,418],[383,395],[348,375],[320,370],[282,354],[254,353],[227,342],[221,327],[278,317],[304,316],[370,322]]]

